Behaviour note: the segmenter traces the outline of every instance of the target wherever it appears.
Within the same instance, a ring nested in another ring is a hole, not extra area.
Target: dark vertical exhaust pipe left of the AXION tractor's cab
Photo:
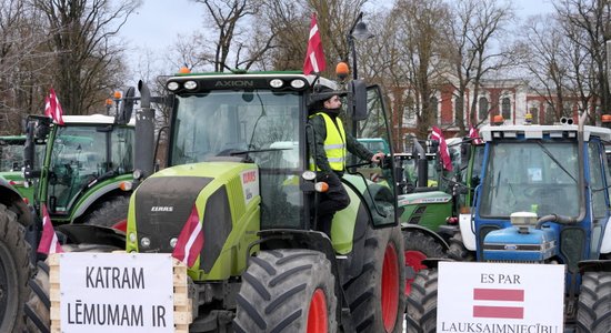
[[[151,109],[151,92],[147,84],[138,82],[140,109],[136,111],[136,152],[133,168],[139,170],[137,182],[153,173],[154,109]]]

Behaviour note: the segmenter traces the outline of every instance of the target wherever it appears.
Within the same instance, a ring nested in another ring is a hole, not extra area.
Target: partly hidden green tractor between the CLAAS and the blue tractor
[[[414,152],[410,158],[411,163],[418,165],[418,172],[412,178],[418,180],[417,184],[427,185],[413,186],[409,193],[399,195],[399,206],[403,209],[400,221],[405,246],[407,294],[411,292],[415,274],[427,268],[422,263],[425,259],[467,256],[469,253],[463,246],[458,221],[461,212],[468,212],[471,206],[483,145],[473,144],[472,140],[449,140],[454,170],[447,172],[441,168],[435,143],[428,140],[422,144],[413,139]],[[435,175],[433,186],[430,185],[431,169]]]

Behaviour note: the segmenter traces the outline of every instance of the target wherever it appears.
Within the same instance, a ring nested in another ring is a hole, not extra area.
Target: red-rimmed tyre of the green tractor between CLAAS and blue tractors
[[[411,292],[415,274],[427,266],[422,261],[427,258],[447,258],[443,246],[428,234],[417,230],[403,230],[403,246],[405,249],[405,296]]]

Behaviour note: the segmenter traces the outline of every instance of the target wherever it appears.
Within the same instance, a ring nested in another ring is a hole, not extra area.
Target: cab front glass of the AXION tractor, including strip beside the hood
[[[177,95],[177,102],[171,164],[246,158],[259,167],[261,228],[299,228],[299,175],[304,168],[299,153],[301,94],[212,90]]]

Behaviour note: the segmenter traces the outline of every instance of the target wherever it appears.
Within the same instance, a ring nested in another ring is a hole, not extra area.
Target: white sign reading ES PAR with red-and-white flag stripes
[[[564,265],[440,262],[437,332],[562,333]]]

